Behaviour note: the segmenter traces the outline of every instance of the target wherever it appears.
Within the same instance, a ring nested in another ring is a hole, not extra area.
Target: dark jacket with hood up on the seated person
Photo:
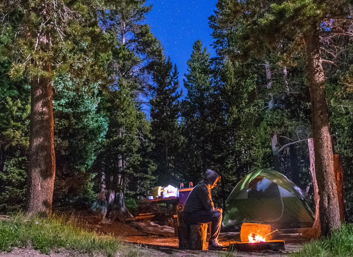
[[[215,210],[211,197],[211,186],[215,183],[219,175],[208,169],[203,179],[193,188],[187,197],[184,212],[194,213],[201,210]]]

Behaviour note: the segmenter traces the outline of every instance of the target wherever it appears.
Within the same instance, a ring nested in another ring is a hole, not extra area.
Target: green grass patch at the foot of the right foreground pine
[[[329,237],[311,240],[291,257],[348,257],[353,256],[353,224],[342,224]]]

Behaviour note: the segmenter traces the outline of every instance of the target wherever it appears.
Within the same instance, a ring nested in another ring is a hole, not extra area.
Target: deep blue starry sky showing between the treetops
[[[164,54],[177,64],[180,87],[183,87],[184,74],[187,73],[186,61],[190,59],[192,45],[201,39],[211,57],[215,50],[208,17],[214,14],[217,0],[146,0],[152,4],[152,11],[146,15],[146,23],[151,32],[164,46]],[[186,90],[183,88],[183,98]]]

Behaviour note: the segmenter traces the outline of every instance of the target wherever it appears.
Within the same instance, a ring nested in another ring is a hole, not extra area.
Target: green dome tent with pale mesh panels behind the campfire
[[[311,227],[314,215],[306,192],[280,172],[262,169],[249,173],[226,201],[223,225],[261,222],[273,228]]]

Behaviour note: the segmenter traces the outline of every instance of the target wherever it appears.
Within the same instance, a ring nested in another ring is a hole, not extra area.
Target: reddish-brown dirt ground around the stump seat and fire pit
[[[92,219],[93,218],[93,219]],[[144,222],[119,222],[101,220],[97,222],[94,216],[86,217],[87,224],[96,231],[114,234],[126,243],[138,245],[143,248],[153,250],[158,255],[172,256],[222,256],[219,251],[185,251],[179,250],[178,238],[174,237],[174,228],[169,226],[159,226],[151,221]],[[238,257],[250,256],[286,256],[287,253],[297,251],[301,245],[310,241],[304,238],[305,229],[280,230],[272,234],[273,240],[284,240],[286,251],[259,251],[259,252],[238,252]],[[209,234],[207,235],[208,242]],[[223,252],[227,250],[229,244],[240,242],[240,232],[220,233],[219,241],[225,246]],[[208,247],[208,243],[206,243]],[[234,254],[235,256],[235,254]]]

